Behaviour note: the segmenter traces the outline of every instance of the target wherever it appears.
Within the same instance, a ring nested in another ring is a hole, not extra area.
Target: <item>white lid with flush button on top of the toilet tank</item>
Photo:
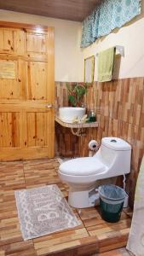
[[[116,151],[131,150],[130,144],[119,137],[103,137],[101,140],[101,144],[106,146],[107,148],[112,148]]]

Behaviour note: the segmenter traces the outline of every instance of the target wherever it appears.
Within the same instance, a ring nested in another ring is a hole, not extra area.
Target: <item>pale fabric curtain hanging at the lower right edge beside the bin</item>
[[[135,256],[144,255],[144,156],[136,183],[134,213],[126,248]]]

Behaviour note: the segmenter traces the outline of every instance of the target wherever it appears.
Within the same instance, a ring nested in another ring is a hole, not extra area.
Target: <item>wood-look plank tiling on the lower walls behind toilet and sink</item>
[[[66,83],[55,83],[55,102],[67,106]],[[55,126],[56,152],[59,155],[88,155],[88,142],[101,137],[121,137],[132,145],[131,172],[127,179],[130,205],[144,154],[144,78],[118,79],[89,86],[84,102],[95,109],[99,128],[86,130],[86,137],[73,137],[71,131]]]

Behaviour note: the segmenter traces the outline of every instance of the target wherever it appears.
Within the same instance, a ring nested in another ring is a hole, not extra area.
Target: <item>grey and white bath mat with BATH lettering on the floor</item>
[[[81,224],[55,184],[16,190],[14,195],[24,240]]]

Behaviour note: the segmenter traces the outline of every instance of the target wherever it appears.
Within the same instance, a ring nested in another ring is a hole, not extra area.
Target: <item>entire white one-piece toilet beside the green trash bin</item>
[[[104,137],[93,157],[67,160],[60,165],[60,179],[69,185],[68,203],[72,207],[93,207],[99,195],[98,181],[130,172],[131,146],[118,137]]]

